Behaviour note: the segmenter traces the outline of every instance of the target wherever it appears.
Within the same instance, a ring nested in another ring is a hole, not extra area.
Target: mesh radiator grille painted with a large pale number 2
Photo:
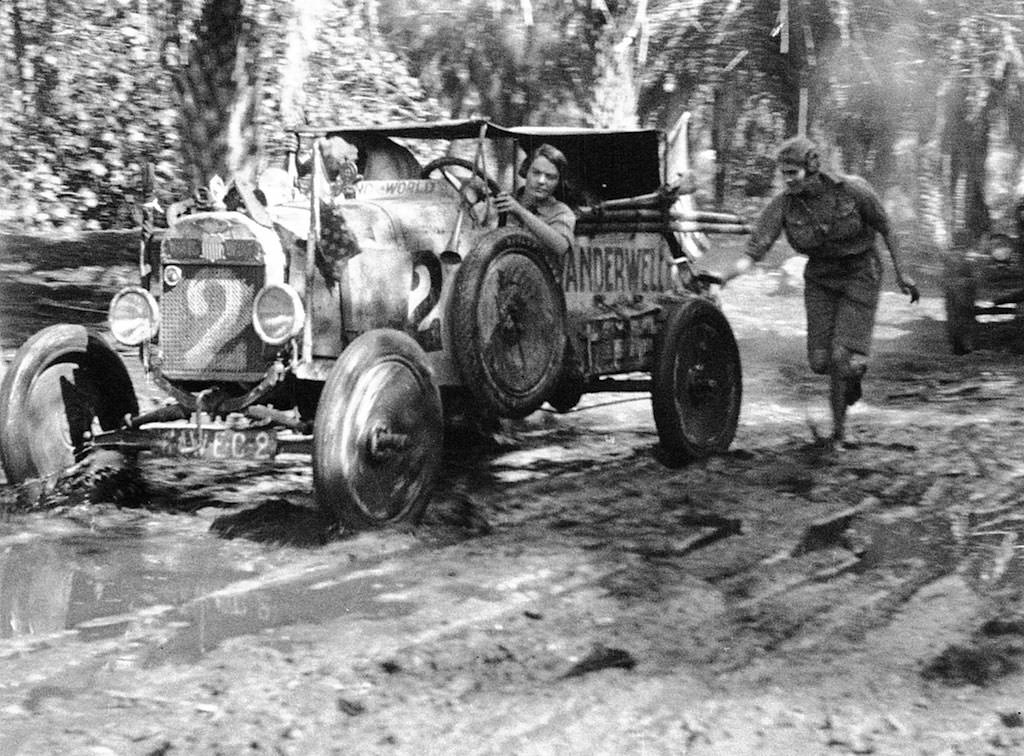
[[[263,266],[179,265],[181,281],[161,298],[162,371],[178,380],[252,380],[266,370],[252,326]]]

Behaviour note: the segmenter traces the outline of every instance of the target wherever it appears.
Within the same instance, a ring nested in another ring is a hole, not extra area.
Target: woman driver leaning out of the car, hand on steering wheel
[[[515,196],[502,192],[495,197],[495,207],[508,213],[510,223],[528,229],[549,251],[561,270],[561,262],[572,246],[575,214],[564,202],[555,199],[562,188],[568,161],[551,144],[536,148],[519,168],[526,182]]]

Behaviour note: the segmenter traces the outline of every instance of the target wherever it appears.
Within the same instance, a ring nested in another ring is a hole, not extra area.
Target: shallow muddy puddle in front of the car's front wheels
[[[416,548],[409,537],[271,547],[219,538],[204,515],[79,507],[5,518],[0,657],[114,640],[122,654],[131,646],[132,666],[150,666],[196,660],[226,638],[285,625],[410,611],[407,601],[381,598],[404,584],[359,558]]]

